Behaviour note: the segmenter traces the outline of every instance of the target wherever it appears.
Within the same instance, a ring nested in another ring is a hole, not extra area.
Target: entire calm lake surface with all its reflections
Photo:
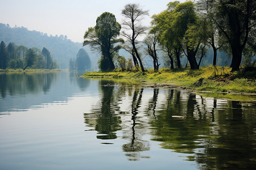
[[[76,75],[0,73],[0,169],[256,167],[256,101]]]

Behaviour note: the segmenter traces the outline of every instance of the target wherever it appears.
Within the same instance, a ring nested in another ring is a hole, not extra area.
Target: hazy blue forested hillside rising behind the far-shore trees
[[[64,35],[48,36],[47,33],[29,31],[24,27],[11,28],[9,24],[3,23],[0,23],[0,42],[1,41],[5,42],[6,45],[13,42],[15,46],[23,45],[28,49],[35,47],[42,50],[46,48],[51,52],[53,61],[57,62],[59,69],[68,69],[69,60],[76,58],[77,53],[82,48],[82,43],[73,42]],[[86,50],[86,52],[88,51],[89,50]],[[89,56],[91,56],[91,54],[91,52],[88,52]],[[97,61],[94,63],[96,62]]]

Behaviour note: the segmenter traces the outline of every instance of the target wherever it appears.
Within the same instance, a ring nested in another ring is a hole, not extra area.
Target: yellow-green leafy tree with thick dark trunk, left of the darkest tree
[[[195,4],[192,1],[184,3],[176,3],[173,5],[174,10],[171,12],[171,20],[169,21],[170,27],[164,34],[165,37],[172,36],[173,40],[167,39],[172,46],[180,46],[183,49],[185,56],[188,58],[191,70],[199,69],[196,61],[196,53],[201,44],[196,40],[191,43],[191,31],[197,24],[199,16],[195,12]],[[189,33],[189,34],[188,34]]]

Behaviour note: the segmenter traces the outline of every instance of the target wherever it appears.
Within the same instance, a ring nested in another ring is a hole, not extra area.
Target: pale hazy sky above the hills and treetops
[[[26,27],[49,35],[67,35],[82,42],[88,27],[96,25],[103,12],[111,12],[121,24],[121,10],[127,3],[139,3],[149,15],[166,9],[170,0],[0,0],[0,23]],[[173,0],[174,1],[174,0]],[[185,0],[184,0],[185,1]],[[180,2],[184,2],[180,1]],[[150,16],[144,25],[150,24]]]

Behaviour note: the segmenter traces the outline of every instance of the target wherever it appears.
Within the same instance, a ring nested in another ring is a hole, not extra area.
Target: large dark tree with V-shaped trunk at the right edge
[[[255,31],[256,1],[254,0],[205,0],[208,11],[213,10],[212,19],[220,30],[221,37],[232,49],[232,71],[239,70],[242,52],[248,37]],[[256,39],[254,37],[254,39]]]

